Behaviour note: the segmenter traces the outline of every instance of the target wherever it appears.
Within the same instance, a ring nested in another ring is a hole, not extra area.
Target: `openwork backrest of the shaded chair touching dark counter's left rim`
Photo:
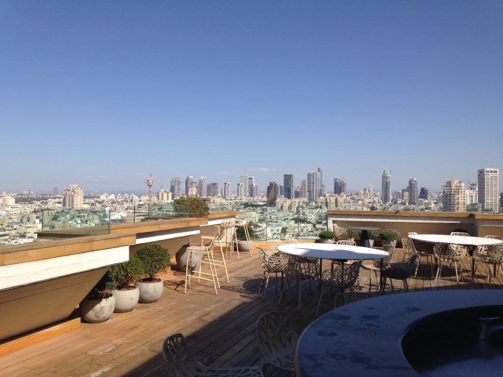
[[[278,354],[292,344],[297,344],[299,336],[295,332],[288,314],[270,312],[257,321],[257,339],[259,350],[265,358],[278,359]]]

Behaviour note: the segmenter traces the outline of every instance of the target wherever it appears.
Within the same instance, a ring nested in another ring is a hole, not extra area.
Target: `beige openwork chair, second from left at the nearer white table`
[[[283,285],[283,289],[281,290],[280,300],[278,301],[278,305],[281,303],[281,299],[283,298],[283,293],[285,292],[285,287],[290,286],[290,280],[295,280],[297,292],[298,292],[298,301],[299,301],[299,312],[300,312],[300,300],[302,293],[302,281],[309,280],[309,285],[311,284],[311,279],[316,279],[319,276],[320,266],[317,262],[310,262],[307,260],[308,258],[289,255],[282,253],[282,267],[283,272],[287,278],[286,284]],[[316,259],[316,258],[315,258]],[[317,259],[316,259],[317,260]],[[318,297],[316,293],[316,289],[314,289],[314,294],[316,298]]]

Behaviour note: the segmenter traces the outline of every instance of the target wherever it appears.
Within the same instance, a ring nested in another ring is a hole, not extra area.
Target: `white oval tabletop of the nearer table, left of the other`
[[[332,260],[380,259],[389,255],[383,250],[329,243],[292,243],[280,245],[278,250],[286,254]]]

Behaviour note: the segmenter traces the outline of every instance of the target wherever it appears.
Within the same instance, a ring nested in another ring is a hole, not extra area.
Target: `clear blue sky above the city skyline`
[[[503,168],[502,25],[499,1],[3,1],[0,191],[474,181]]]

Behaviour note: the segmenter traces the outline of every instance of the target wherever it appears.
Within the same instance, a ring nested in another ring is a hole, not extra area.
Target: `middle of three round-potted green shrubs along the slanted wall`
[[[134,284],[145,275],[143,263],[133,256],[127,262],[111,267],[109,272],[116,285],[116,289],[112,291],[115,297],[114,312],[130,312],[140,298],[140,290]]]

